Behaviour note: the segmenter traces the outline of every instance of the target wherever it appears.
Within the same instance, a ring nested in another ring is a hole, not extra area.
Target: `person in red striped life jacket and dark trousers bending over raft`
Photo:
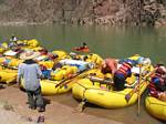
[[[126,79],[132,75],[132,61],[127,61],[122,63],[118,70],[114,74],[114,90],[122,91],[125,89],[124,84],[126,83]]]

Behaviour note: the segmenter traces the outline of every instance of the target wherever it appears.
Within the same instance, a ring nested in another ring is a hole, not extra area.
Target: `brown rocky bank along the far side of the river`
[[[0,24],[166,24],[164,0],[2,0]]]

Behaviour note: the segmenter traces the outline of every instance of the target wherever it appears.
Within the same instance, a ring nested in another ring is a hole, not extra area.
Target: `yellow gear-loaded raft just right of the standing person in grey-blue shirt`
[[[41,91],[43,95],[55,95],[69,92],[76,80],[86,76],[89,73],[94,73],[94,68],[89,62],[80,60],[61,60],[61,68],[50,71],[48,80],[41,80]],[[44,73],[43,73],[44,75]],[[23,80],[22,80],[22,89]]]

